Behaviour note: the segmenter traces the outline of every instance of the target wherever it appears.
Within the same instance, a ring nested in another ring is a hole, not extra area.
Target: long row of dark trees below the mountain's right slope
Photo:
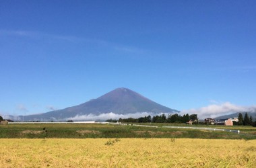
[[[106,122],[139,122],[139,123],[147,123],[147,122],[154,122],[154,123],[187,123],[189,120],[196,120],[198,121],[197,114],[184,114],[183,116],[179,114],[169,114],[166,116],[162,114],[160,116],[145,116],[141,118],[119,118],[119,120],[106,120]]]

